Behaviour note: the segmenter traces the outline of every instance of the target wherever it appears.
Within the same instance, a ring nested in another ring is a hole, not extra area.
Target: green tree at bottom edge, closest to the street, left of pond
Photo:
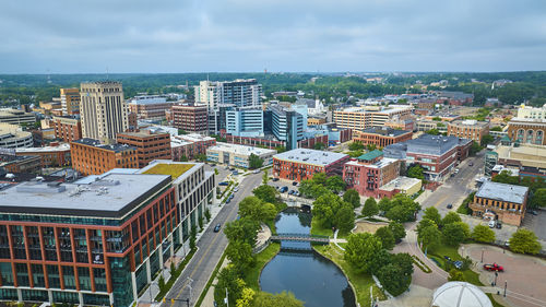
[[[218,272],[218,282],[214,287],[214,300],[221,307],[225,307],[224,298],[226,298],[226,288],[229,293],[228,302],[229,306],[235,306],[237,299],[242,295],[242,290],[245,288],[245,282],[240,279],[240,273],[238,269],[233,264],[227,264],[224,269]]]

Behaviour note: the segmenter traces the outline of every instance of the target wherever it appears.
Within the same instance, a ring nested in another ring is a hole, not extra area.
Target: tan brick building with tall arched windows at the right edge
[[[546,119],[512,118],[507,132],[514,143],[546,145]]]

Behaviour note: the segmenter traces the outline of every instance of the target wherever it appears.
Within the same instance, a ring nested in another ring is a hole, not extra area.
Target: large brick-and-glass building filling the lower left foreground
[[[213,200],[203,164],[157,165],[1,190],[0,300],[132,305]]]

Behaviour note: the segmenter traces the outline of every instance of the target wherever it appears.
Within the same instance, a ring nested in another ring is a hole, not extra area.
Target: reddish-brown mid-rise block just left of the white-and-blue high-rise
[[[209,114],[205,105],[175,105],[173,126],[187,132],[206,134],[209,132]]]

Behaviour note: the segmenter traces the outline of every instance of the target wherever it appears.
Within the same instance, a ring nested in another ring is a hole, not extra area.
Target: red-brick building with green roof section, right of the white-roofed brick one
[[[343,180],[347,188],[360,196],[379,198],[379,188],[400,175],[400,161],[383,157],[381,151],[371,151],[343,166]]]

